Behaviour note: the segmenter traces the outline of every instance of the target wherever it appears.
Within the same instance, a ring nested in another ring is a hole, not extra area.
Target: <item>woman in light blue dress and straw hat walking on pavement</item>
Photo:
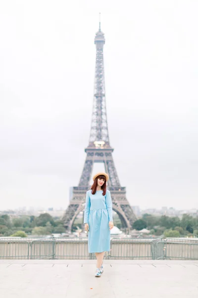
[[[102,261],[105,251],[110,251],[110,230],[113,228],[112,201],[106,190],[108,175],[99,172],[93,177],[94,183],[86,193],[84,224],[88,231],[88,251],[97,257],[96,277],[103,272]]]

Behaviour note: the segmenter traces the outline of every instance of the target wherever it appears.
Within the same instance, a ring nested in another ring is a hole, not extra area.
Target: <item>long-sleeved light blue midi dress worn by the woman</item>
[[[109,221],[113,221],[112,201],[109,190],[102,196],[103,190],[92,190],[86,193],[84,224],[89,224],[88,251],[102,252],[110,251],[110,229]]]

